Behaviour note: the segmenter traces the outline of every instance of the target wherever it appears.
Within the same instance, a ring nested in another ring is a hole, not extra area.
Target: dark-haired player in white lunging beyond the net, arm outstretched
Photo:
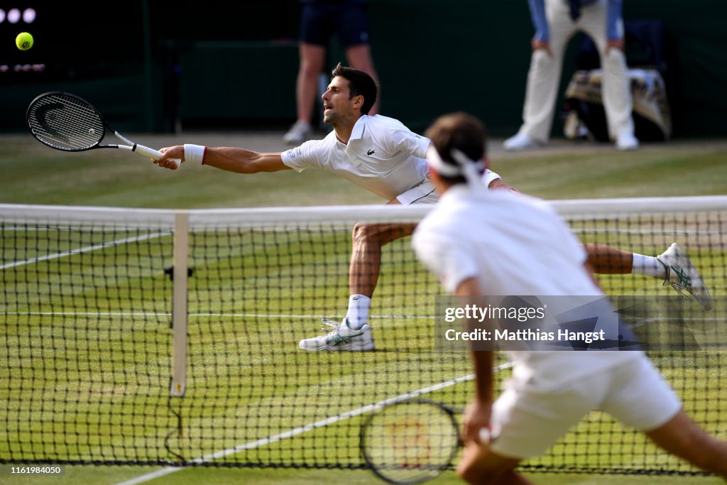
[[[309,140],[281,153],[258,153],[244,148],[177,145],[162,148],[160,167],[176,169],[182,159],[243,174],[294,169],[324,169],[340,175],[381,197],[387,204],[434,204],[438,194],[427,178],[426,137],[401,121],[369,116],[377,98],[371,76],[337,65],[324,92],[324,121],[333,131],[323,140]],[[486,170],[487,188],[509,188]],[[382,246],[410,236],[414,224],[358,224],[353,228],[353,250],[348,275],[349,299],[340,323],[324,319],[326,334],[300,341],[301,350],[374,350],[369,326],[371,297],[379,279]],[[624,252],[603,244],[587,247],[593,269],[599,273],[638,273],[654,276],[694,295],[706,310],[712,308],[707,288],[686,253],[672,246],[659,257]],[[678,268],[679,270],[673,270]],[[685,278],[679,278],[683,275]]]

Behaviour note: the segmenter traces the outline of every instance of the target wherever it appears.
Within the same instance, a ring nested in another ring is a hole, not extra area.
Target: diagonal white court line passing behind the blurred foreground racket
[[[500,371],[502,369],[507,369],[508,367],[512,367],[512,362],[507,362],[505,364],[495,366],[494,371]],[[451,385],[459,384],[459,382],[466,382],[468,380],[473,380],[475,378],[475,374],[469,374],[465,375],[463,377],[457,377],[457,379],[448,380],[446,382],[440,382],[439,384],[431,385],[428,388],[422,388],[418,390],[412,390],[409,393],[401,394],[401,396],[395,396],[393,398],[388,398],[383,401],[379,401],[376,404],[369,404],[364,407],[360,407],[358,409],[353,409],[352,411],[347,411],[342,414],[337,414],[336,416],[327,417],[325,420],[320,420],[316,422],[312,422],[309,425],[301,426],[300,428],[294,428],[292,430],[288,430],[284,433],[279,433],[274,436],[270,436],[268,438],[262,438],[256,441],[250,441],[246,444],[239,444],[237,446],[233,446],[232,448],[223,449],[220,452],[214,452],[212,454],[208,454],[204,457],[196,458],[195,460],[191,460],[191,463],[205,463],[212,460],[217,460],[219,458],[227,457],[230,454],[236,454],[239,452],[242,452],[246,449],[253,449],[257,448],[259,446],[265,446],[271,443],[275,443],[276,441],[281,441],[285,438],[292,438],[293,436],[300,435],[302,433],[305,433],[306,431],[314,430],[316,428],[322,428],[323,426],[332,425],[334,422],[339,422],[342,420],[346,420],[350,417],[355,417],[360,414],[364,414],[366,412],[375,411],[376,409],[382,408],[383,406],[388,406],[389,404],[395,404],[401,401],[406,401],[407,399],[415,398],[417,396],[422,396],[422,394],[432,393],[435,390],[440,390],[443,388],[448,388]],[[161,470],[156,470],[152,473],[147,473],[142,476],[138,476],[137,478],[132,478],[131,480],[122,481],[119,484],[116,485],[136,485],[136,484],[142,484],[146,481],[153,480],[154,478],[159,478],[161,476],[169,475],[170,473],[174,473],[180,470],[183,470],[186,467],[166,467],[162,468]]]

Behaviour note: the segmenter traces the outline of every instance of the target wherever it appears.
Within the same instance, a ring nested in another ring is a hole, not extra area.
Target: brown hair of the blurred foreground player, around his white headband
[[[427,129],[425,137],[432,140],[434,148],[446,164],[457,166],[452,158],[452,148],[465,153],[468,159],[478,161],[486,156],[487,134],[485,126],[474,116],[467,113],[451,113],[440,116],[434,124]],[[441,174],[440,174],[441,175]],[[444,177],[442,179],[451,185],[467,183],[465,177]]]

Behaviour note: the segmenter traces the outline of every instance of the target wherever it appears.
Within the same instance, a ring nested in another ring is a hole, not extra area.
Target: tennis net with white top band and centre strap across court
[[[679,300],[680,341],[723,325],[727,197],[554,205],[587,243],[656,255],[678,241],[715,306]],[[367,413],[472,396],[467,353],[435,349],[443,290],[408,238],[393,241],[371,306],[377,350],[305,352],[298,341],[345,315],[354,225],[426,212],[0,204],[0,462],[364,468]],[[610,295],[679,298],[647,276],[599,281]],[[675,333],[643,327],[650,340]],[[694,349],[650,355],[687,412],[727,438],[725,353]],[[510,370],[498,364],[502,385]],[[699,473],[599,412],[523,469]]]

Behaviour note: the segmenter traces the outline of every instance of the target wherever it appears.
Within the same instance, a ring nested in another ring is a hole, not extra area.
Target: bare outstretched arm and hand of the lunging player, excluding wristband
[[[160,151],[164,153],[161,160],[154,160],[154,163],[158,164],[159,167],[175,169],[176,166],[170,161],[175,158],[188,161],[185,158],[184,145],[162,148]],[[204,148],[204,158],[201,155],[199,157],[201,163],[205,165],[241,174],[278,172],[278,170],[290,169],[283,163],[280,153],[259,153],[244,148],[206,147]]]

